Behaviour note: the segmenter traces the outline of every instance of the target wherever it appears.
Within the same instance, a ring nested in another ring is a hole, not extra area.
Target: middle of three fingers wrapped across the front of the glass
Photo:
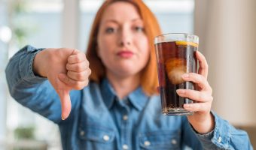
[[[178,89],[176,92],[182,98],[190,98],[191,100],[197,102],[207,102],[213,100],[212,95],[209,95],[206,92],[199,92],[191,89]]]

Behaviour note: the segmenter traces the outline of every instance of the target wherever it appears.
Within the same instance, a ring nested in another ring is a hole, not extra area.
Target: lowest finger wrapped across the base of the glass
[[[184,104],[184,109],[192,112],[209,112],[211,110],[210,103],[194,103],[194,104]]]

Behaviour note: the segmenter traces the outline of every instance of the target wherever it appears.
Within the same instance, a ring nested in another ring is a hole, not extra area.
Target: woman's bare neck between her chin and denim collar
[[[107,78],[111,86],[114,88],[118,98],[121,100],[125,98],[130,92],[133,92],[140,85],[139,74],[133,77],[114,77],[107,74]]]

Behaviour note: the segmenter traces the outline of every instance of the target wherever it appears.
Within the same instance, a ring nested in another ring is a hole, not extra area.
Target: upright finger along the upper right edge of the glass
[[[208,64],[207,64],[206,58],[199,51],[196,51],[196,55],[197,55],[197,60],[199,62],[198,74],[203,75],[203,77],[205,77],[207,79],[207,77],[208,77]]]

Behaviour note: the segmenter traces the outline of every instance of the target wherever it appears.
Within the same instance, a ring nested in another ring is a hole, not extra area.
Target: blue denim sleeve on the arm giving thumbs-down
[[[11,96],[30,110],[43,115],[55,123],[61,121],[59,96],[47,78],[38,77],[32,71],[35,55],[43,49],[25,46],[8,62],[5,74]],[[72,107],[77,104],[78,91],[70,93]],[[71,114],[72,115],[72,114]]]

